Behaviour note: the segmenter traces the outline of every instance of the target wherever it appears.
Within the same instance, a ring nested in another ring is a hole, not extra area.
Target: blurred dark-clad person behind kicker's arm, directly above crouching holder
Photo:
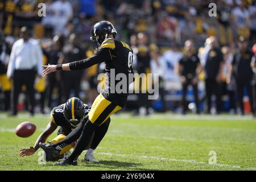
[[[64,55],[64,63],[71,63],[72,61],[85,59],[85,51],[79,46],[78,38],[75,34],[69,36],[69,47]],[[71,91],[74,90],[73,97],[79,97],[80,83],[83,71],[64,72],[63,78],[65,80],[65,100],[68,100],[71,95]]]

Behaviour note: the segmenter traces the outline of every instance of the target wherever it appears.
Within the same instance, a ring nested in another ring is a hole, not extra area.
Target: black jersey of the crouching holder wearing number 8
[[[57,107],[54,107],[51,111],[51,122],[55,123],[57,126],[60,126],[58,135],[68,135],[72,131],[71,124],[64,117],[64,107],[65,104],[61,104]],[[85,115],[89,113],[90,108],[91,107],[89,105],[84,104]]]

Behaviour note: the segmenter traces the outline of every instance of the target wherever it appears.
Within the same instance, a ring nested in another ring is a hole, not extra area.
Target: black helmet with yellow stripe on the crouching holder
[[[64,117],[73,128],[77,127],[84,117],[84,104],[77,97],[69,98],[65,104]]]

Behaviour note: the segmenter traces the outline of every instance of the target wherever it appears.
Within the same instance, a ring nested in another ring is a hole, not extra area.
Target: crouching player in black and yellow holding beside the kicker
[[[79,124],[82,125],[81,120],[82,118],[88,114],[90,111],[90,106],[83,104],[79,98],[72,97],[65,104],[61,104],[57,107],[54,107],[51,111],[51,121],[48,123],[46,129],[43,131],[42,134],[39,135],[38,139],[35,142],[34,147],[24,148],[20,150],[19,156],[28,156],[35,154],[36,150],[39,148],[40,142],[46,142],[49,135],[53,133],[60,126],[60,129],[57,133],[57,137],[52,139],[51,143],[60,142],[63,140],[73,129],[75,129]],[[88,162],[98,162],[97,159],[93,156],[93,151],[96,149],[98,144],[101,142],[102,138],[108,131],[110,123],[110,118],[106,121],[103,125],[98,127],[95,131],[94,136],[91,138],[90,141],[90,148],[86,152],[85,160]],[[56,161],[61,158],[65,158],[71,154],[69,150],[75,146],[75,142],[68,144],[67,146],[63,147],[60,151],[59,155],[52,155],[51,152],[46,151],[46,161]],[[64,154],[64,155],[63,155]]]

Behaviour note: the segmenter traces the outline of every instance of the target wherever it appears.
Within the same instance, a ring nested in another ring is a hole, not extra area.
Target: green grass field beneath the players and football
[[[14,134],[23,121],[37,126],[31,137]],[[76,167],[38,164],[41,150],[18,156],[21,148],[33,146],[48,121],[48,115],[0,114],[0,170],[256,170],[256,120],[250,116],[114,115],[95,152],[100,163],[83,162],[83,152]],[[209,164],[210,151],[216,152],[217,164]]]

